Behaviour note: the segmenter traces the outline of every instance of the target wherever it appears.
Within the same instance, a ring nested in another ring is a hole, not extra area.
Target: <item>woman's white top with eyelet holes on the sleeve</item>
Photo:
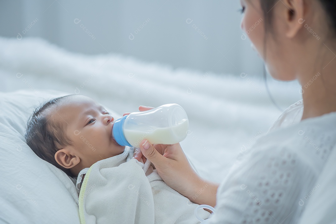
[[[229,171],[206,223],[297,223],[336,142],[336,112],[301,121],[290,106]]]

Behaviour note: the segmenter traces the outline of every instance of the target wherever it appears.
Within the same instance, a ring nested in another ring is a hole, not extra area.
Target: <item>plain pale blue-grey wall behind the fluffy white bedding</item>
[[[116,53],[174,68],[261,75],[262,61],[241,38],[239,8],[239,0],[1,0],[0,36],[41,37],[73,52]]]

